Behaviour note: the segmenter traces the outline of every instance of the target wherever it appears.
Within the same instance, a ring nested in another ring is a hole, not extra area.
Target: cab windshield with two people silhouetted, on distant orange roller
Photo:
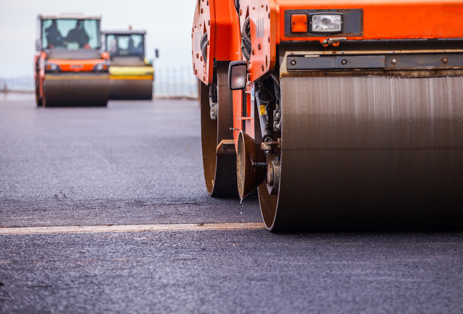
[[[43,49],[99,49],[100,21],[97,19],[44,19]]]

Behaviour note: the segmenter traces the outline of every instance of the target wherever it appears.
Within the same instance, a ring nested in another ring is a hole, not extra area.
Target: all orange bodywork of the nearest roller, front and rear
[[[291,18],[291,14],[287,14],[291,12],[287,11],[342,12],[348,9],[361,10],[361,33],[342,34],[348,41],[463,37],[461,0],[359,0],[355,3],[346,0],[241,0],[238,12],[233,1],[198,0],[191,30],[192,60],[195,75],[206,85],[213,83],[214,60],[244,60],[240,49],[241,31],[249,16],[252,51],[248,62],[248,87],[246,91],[233,91],[235,145],[240,130],[244,129],[254,138],[251,86],[275,71],[278,46],[283,42],[321,43],[333,37],[288,34],[285,22]],[[203,61],[200,38],[205,32],[208,48]],[[243,97],[242,93],[248,96]]]

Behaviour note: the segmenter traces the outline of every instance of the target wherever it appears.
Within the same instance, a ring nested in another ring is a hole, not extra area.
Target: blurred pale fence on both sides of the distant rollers
[[[0,78],[0,92],[34,92],[32,77]],[[198,97],[198,80],[191,68],[156,68],[156,97]]]

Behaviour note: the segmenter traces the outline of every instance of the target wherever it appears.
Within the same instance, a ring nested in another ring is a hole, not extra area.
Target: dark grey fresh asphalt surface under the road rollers
[[[0,94],[0,227],[261,222],[213,199],[194,101]],[[463,232],[0,235],[1,313],[461,313]]]

